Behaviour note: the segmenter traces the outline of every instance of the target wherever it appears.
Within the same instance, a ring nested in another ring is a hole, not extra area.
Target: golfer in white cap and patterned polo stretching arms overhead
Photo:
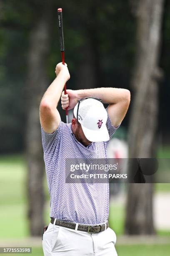
[[[65,159],[106,158],[107,144],[122,122],[130,92],[117,88],[67,90],[67,64],[57,64],[56,78],[40,103],[42,147],[50,193],[50,223],[42,236],[45,256],[117,256],[116,235],[109,228],[109,184],[65,183]],[[57,111],[74,108],[71,123]],[[108,103],[105,109],[102,102]]]

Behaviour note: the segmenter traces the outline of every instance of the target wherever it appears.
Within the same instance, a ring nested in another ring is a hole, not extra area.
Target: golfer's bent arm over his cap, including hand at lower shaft
[[[62,108],[74,108],[77,100],[84,97],[97,97],[103,103],[109,104],[108,115],[114,127],[117,127],[123,120],[130,104],[130,91],[119,88],[95,88],[85,90],[67,90],[67,95],[62,93]],[[69,99],[68,99],[69,95]]]

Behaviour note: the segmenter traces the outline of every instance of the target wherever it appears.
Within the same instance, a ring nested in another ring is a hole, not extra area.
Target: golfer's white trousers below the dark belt
[[[116,234],[111,228],[93,234],[52,223],[42,238],[44,256],[117,256],[115,243]]]

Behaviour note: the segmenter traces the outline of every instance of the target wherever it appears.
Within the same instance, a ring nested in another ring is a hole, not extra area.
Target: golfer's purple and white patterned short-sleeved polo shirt
[[[107,110],[107,109],[106,109]],[[117,130],[107,114],[110,138]],[[106,158],[109,141],[84,146],[72,133],[71,123],[60,124],[56,131],[42,133],[47,185],[50,193],[50,217],[68,222],[97,225],[107,221],[109,214],[108,183],[65,183],[65,159]]]

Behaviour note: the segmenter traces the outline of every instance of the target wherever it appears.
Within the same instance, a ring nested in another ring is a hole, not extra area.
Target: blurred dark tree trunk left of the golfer
[[[41,146],[39,105],[48,85],[46,62],[49,52],[50,6],[47,4],[41,5],[39,13],[39,18],[37,18],[36,24],[30,34],[27,81],[28,120],[26,153],[28,163],[28,218],[32,236],[41,235],[44,225],[44,162]]]

